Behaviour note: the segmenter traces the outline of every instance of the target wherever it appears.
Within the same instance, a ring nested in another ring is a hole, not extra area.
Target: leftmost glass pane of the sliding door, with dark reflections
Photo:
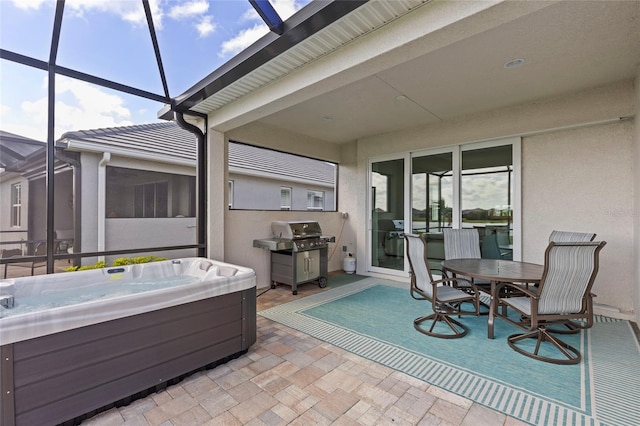
[[[371,164],[371,266],[404,270],[404,159]]]

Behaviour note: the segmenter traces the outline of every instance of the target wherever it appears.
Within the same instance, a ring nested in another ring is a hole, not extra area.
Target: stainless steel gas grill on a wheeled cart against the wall
[[[335,237],[322,235],[318,222],[276,221],[271,223],[273,238],[253,240],[253,246],[271,252],[271,288],[317,281],[327,286],[327,249]]]

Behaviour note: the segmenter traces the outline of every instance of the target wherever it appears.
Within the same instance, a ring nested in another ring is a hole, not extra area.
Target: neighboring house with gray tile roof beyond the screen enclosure
[[[1,143],[0,199],[11,206],[3,207],[2,241],[17,241],[12,247],[25,254],[35,243],[19,241],[46,240],[43,145],[6,133]],[[162,122],[67,132],[57,147],[55,229],[65,246],[94,252],[196,243],[193,134]],[[231,208],[334,209],[335,165],[236,143],[229,161]]]

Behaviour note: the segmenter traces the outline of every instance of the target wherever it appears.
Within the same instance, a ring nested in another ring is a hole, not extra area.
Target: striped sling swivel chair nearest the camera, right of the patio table
[[[580,362],[580,352],[555,336],[554,334],[563,332],[553,330],[550,326],[567,325],[567,321],[570,321],[573,327],[583,329],[593,325],[594,295],[591,293],[591,287],[598,273],[599,254],[605,244],[604,241],[550,242],[545,251],[544,272],[539,287],[520,288],[524,296],[499,299],[499,305],[506,309],[496,309],[496,316],[528,330],[526,333],[513,334],[507,338],[513,350],[530,358],[554,364]],[[499,291],[510,285],[512,284],[500,283],[496,289]],[[519,314],[518,320],[508,317],[509,308]],[[535,347],[527,345],[528,339],[536,339]],[[550,345],[543,345],[546,342]]]

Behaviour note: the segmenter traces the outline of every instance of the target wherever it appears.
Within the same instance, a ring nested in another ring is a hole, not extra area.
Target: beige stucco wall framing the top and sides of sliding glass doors
[[[521,136],[523,260],[542,261],[546,238],[553,229],[596,232],[607,241],[595,287],[596,301],[629,313],[638,291],[634,280],[637,262],[632,255],[634,127],[631,120],[598,123],[633,116],[634,92],[633,81],[624,81],[359,140],[359,177],[354,185],[359,190],[344,188],[340,199],[366,205],[366,191],[359,185],[366,185],[371,157]],[[361,215],[366,217],[365,209]],[[362,258],[366,239],[366,226],[361,225],[357,247]],[[364,273],[364,266],[359,262],[358,271]]]

